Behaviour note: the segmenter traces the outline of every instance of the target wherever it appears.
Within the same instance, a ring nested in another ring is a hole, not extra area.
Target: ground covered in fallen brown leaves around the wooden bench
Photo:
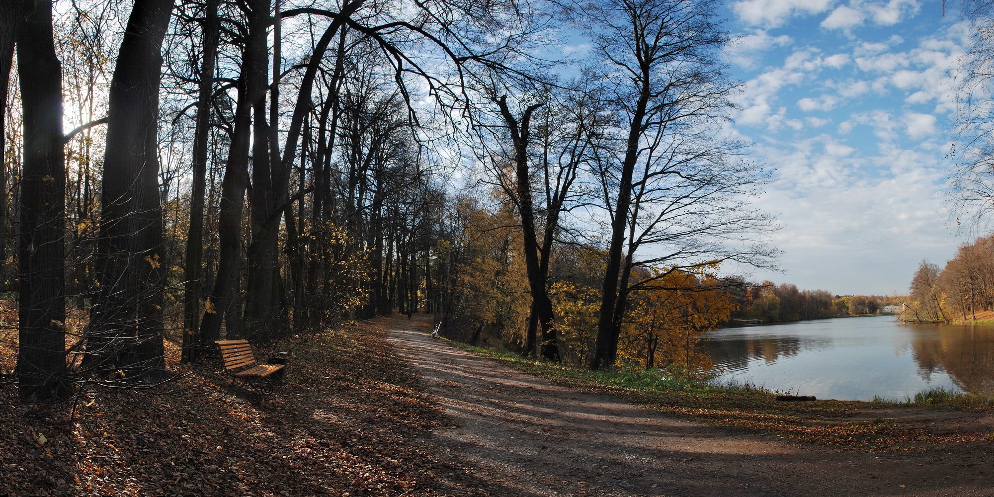
[[[0,495],[481,492],[420,441],[444,419],[392,353],[391,322],[298,344],[261,406],[226,393],[220,364],[178,381],[209,393],[196,397],[118,390],[37,408],[0,387]]]

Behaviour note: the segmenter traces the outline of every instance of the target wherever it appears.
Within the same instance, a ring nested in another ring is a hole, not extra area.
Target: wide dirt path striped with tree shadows
[[[492,495],[994,496],[994,443],[876,454],[787,443],[580,393],[397,327],[396,352],[453,420],[425,442],[475,464]]]

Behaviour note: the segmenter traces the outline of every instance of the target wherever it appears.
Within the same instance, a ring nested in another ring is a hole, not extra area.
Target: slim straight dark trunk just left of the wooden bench
[[[184,363],[196,361],[205,345],[200,339],[201,265],[204,258],[204,196],[207,189],[207,142],[211,132],[211,93],[214,88],[214,60],[218,54],[218,2],[207,0],[204,22],[204,60],[201,61],[197,127],[193,143],[193,185],[190,191],[190,230],[187,235],[186,268],[183,286]]]

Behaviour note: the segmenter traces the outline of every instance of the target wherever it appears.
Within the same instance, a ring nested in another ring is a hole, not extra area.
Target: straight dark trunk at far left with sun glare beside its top
[[[62,66],[53,39],[52,2],[25,0],[21,7],[27,16],[17,35],[24,108],[17,372],[22,397],[52,399],[69,393]]]

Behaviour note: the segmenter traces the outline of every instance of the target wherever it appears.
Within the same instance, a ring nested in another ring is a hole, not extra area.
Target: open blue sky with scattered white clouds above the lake
[[[948,2],[953,3],[953,2]],[[775,169],[782,272],[753,280],[835,294],[908,292],[975,233],[943,193],[968,24],[940,2],[730,0],[734,132]],[[962,232],[962,233],[961,233]]]

